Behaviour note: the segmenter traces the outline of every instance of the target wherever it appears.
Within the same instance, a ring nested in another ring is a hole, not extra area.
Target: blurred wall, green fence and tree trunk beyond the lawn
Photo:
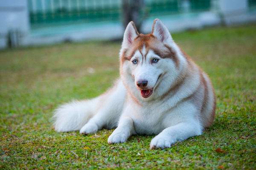
[[[0,0],[0,48],[122,40],[159,18],[170,32],[256,22],[256,0]]]

